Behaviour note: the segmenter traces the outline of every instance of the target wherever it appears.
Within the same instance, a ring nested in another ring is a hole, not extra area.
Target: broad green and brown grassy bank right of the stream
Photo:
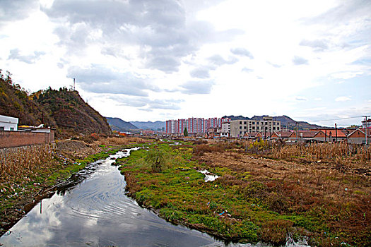
[[[355,172],[367,171],[369,161],[354,163],[352,156],[339,166],[336,159],[277,159],[246,150],[235,143],[160,143],[117,162],[140,205],[220,239],[369,246],[370,175]],[[206,182],[204,169],[220,177]]]

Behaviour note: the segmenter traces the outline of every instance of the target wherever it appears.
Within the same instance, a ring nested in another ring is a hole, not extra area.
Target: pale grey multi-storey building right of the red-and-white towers
[[[267,136],[273,131],[281,131],[281,121],[273,121],[271,116],[264,116],[263,120],[239,119],[230,121],[230,137],[232,138],[241,138],[249,132],[261,132]]]

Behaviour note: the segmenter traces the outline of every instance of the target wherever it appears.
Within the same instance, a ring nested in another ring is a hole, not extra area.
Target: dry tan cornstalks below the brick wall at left
[[[35,168],[47,166],[54,153],[54,145],[0,150],[0,182],[27,176]]]

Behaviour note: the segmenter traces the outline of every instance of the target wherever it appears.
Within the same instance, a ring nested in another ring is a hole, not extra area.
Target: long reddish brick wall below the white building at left
[[[0,148],[54,143],[54,130],[51,133],[0,131]]]

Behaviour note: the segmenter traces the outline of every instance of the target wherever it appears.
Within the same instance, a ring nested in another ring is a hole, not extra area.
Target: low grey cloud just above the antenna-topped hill
[[[112,71],[99,64],[90,68],[70,67],[67,77],[76,78],[81,88],[88,92],[148,96],[147,90],[160,90],[131,73]]]

